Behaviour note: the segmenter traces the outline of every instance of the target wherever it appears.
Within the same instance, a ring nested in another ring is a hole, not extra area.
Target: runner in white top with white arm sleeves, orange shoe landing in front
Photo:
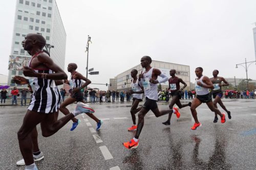
[[[168,78],[164,74],[162,74],[162,72],[159,69],[151,67],[150,64],[152,62],[152,59],[149,56],[142,57],[140,62],[141,66],[145,68],[145,71],[143,74],[141,71],[138,80],[140,85],[143,85],[146,101],[138,114],[139,120],[137,125],[137,131],[134,138],[128,142],[123,143],[124,147],[127,149],[134,149],[138,147],[139,135],[144,125],[144,116],[148,111],[152,110],[156,117],[173,112],[179,114],[178,108],[159,111],[157,106],[157,84],[166,82]],[[158,76],[160,76],[162,79],[157,80]],[[135,91],[135,93],[139,92]]]

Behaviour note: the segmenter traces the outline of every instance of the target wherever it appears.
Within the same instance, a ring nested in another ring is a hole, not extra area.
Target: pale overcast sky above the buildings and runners
[[[8,75],[15,4],[15,0],[5,1],[0,11],[0,74],[4,75]],[[90,35],[89,68],[100,73],[89,75],[94,83],[109,83],[110,78],[139,64],[144,55],[189,65],[190,81],[198,66],[208,77],[218,69],[222,77],[246,78],[245,69],[235,66],[244,58],[255,60],[255,0],[57,0],[57,5],[67,33],[65,69],[75,62],[77,71],[86,74],[84,51]],[[248,78],[256,80],[255,73],[252,64]]]

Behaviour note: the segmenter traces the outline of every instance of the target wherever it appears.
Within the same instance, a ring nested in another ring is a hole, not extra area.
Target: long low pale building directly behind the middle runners
[[[174,64],[174,63],[167,63],[167,62],[152,60],[151,66],[160,69],[161,72],[163,74],[165,74],[168,78],[170,78],[169,70],[176,69],[176,75],[187,84],[186,89],[190,90],[190,71],[189,71],[188,65]],[[142,67],[140,64],[138,64],[138,65],[120,73],[119,75],[117,75],[115,77],[116,83],[117,83],[116,88],[113,90],[119,90],[119,91],[124,90],[125,91],[125,90],[131,89],[131,80],[132,80],[131,70],[132,69],[137,69],[138,75],[139,75],[142,70]],[[161,79],[161,78],[158,77],[158,79]],[[168,87],[169,87],[168,82],[161,83],[162,89],[166,89]]]

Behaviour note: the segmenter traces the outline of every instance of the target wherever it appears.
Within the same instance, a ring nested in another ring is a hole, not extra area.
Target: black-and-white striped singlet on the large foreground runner
[[[29,67],[33,58],[38,54],[39,53],[35,54],[31,58],[29,61]],[[32,69],[39,73],[53,74],[51,69]],[[56,112],[61,101],[61,95],[58,87],[55,86],[54,80],[30,78],[29,82],[33,89],[33,95],[28,109],[39,113]]]

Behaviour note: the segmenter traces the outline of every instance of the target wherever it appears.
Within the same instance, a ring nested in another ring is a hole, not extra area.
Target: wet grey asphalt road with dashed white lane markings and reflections
[[[92,104],[95,115],[104,119],[100,131],[86,115],[79,115],[81,124],[71,132],[71,122],[51,137],[41,136],[39,148],[45,158],[36,162],[38,169],[255,169],[256,167],[256,100],[224,102],[232,119],[225,124],[212,123],[214,114],[205,104],[198,110],[202,127],[191,131],[194,120],[189,108],[174,115],[170,126],[162,124],[167,115],[156,118],[150,111],[145,117],[139,147],[126,150],[122,142],[135,132],[131,103]],[[187,102],[187,101],[185,101]],[[143,104],[142,102],[140,104]],[[69,107],[75,108],[75,104]],[[167,108],[160,103],[159,108]],[[223,110],[221,110],[223,111]],[[21,126],[26,107],[0,107],[0,169],[25,169],[16,166],[22,159],[16,132]],[[59,114],[61,117],[62,114]]]

